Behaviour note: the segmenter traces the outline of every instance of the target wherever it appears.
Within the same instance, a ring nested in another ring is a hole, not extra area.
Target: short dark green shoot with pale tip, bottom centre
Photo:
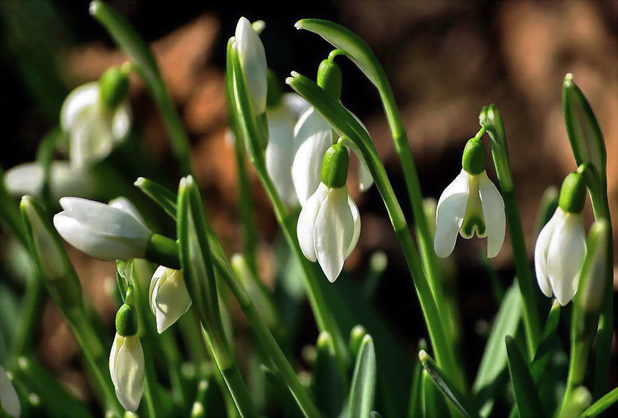
[[[311,392],[316,407],[326,417],[338,417],[341,414],[346,395],[339,375],[333,338],[328,332],[321,332],[316,344]]]

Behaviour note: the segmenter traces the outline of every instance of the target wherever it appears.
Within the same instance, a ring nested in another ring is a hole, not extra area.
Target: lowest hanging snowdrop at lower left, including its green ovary
[[[127,293],[127,302],[131,291]],[[116,337],[109,353],[109,374],[116,397],[130,412],[136,412],[144,392],[144,352],[138,332],[136,308],[126,303],[116,314]]]

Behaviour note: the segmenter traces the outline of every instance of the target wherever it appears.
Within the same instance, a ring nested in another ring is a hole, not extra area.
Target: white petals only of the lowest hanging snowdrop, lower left
[[[109,353],[109,374],[116,397],[127,411],[136,412],[144,392],[144,352],[140,339],[116,333]]]

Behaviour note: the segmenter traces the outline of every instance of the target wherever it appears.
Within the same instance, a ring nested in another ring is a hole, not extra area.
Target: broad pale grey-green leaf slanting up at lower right
[[[500,375],[507,367],[504,337],[515,334],[521,317],[522,294],[519,293],[517,283],[513,283],[504,295],[494,320],[473,385],[473,393],[482,417],[487,417],[492,411]]]

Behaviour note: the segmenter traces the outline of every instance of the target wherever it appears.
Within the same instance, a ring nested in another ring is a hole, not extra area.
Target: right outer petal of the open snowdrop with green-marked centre
[[[504,234],[507,230],[507,217],[504,214],[504,200],[500,191],[483,171],[480,176],[479,193],[485,218],[487,234],[487,257],[490,259],[500,252],[504,244]]]

